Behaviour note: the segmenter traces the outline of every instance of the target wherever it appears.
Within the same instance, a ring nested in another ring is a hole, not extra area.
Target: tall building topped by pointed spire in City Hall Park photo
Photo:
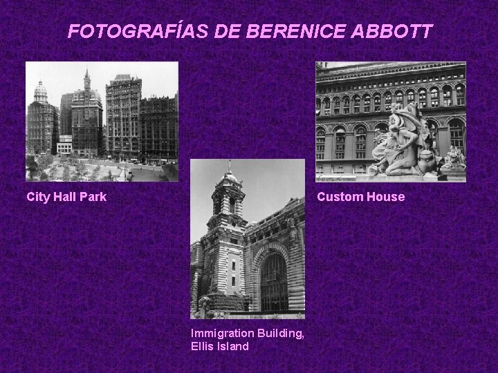
[[[102,153],[102,101],[100,94],[91,89],[91,79],[86,69],[84,90],[73,93],[71,104],[73,152],[86,157]]]

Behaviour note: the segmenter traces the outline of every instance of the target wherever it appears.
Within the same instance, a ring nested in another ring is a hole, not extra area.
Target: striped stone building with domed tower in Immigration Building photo
[[[212,293],[246,296],[252,312],[304,311],[304,198],[248,224],[241,189],[229,168],[212,193],[208,233],[190,246],[192,314]]]

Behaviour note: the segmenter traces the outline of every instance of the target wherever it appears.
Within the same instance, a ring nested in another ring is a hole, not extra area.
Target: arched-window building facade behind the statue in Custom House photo
[[[389,62],[316,69],[316,173],[362,174],[391,106],[418,104],[441,156],[466,153],[464,62]]]

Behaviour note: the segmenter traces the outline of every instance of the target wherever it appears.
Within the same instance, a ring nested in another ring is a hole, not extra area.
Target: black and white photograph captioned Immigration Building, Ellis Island
[[[304,318],[304,242],[304,160],[190,161],[191,318]]]

